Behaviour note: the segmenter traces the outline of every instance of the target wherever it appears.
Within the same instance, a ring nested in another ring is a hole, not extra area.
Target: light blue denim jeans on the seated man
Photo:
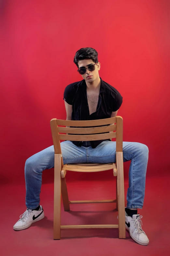
[[[71,141],[61,143],[63,162],[112,163],[116,162],[116,142],[104,141],[96,148],[76,146]],[[123,142],[123,162],[131,160],[127,208],[142,209],[145,196],[145,179],[149,149],[137,142]],[[25,162],[26,206],[35,209],[40,202],[42,172],[54,168],[54,146],[50,146],[28,158]]]

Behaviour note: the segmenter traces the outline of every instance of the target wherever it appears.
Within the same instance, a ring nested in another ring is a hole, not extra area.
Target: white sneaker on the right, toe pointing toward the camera
[[[128,216],[125,212],[125,226],[129,230],[130,236],[134,241],[140,245],[148,245],[149,239],[145,232],[142,230],[141,221],[142,216],[134,214],[132,217]]]

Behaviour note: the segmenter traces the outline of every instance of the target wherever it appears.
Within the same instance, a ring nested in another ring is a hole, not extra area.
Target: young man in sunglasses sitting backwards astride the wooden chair
[[[96,50],[81,48],[76,52],[74,63],[83,80],[65,88],[66,120],[96,120],[116,116],[122,96],[99,77],[100,62]],[[92,142],[64,141],[61,149],[64,164],[116,162],[116,143],[109,139]],[[125,225],[131,237],[140,245],[149,244],[149,239],[141,228],[142,216],[137,213],[137,208],[142,209],[143,206],[148,154],[148,147],[144,144],[123,142],[123,162],[131,160]],[[53,145],[26,160],[27,210],[14,225],[14,230],[26,229],[44,218],[43,208],[39,205],[42,171],[53,167]]]

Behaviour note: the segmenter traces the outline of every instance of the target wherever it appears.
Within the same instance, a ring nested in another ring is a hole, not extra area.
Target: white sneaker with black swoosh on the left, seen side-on
[[[31,224],[43,218],[44,218],[44,210],[41,205],[38,211],[27,209],[23,214],[20,215],[20,219],[14,225],[13,229],[14,230],[27,229],[31,226]]]

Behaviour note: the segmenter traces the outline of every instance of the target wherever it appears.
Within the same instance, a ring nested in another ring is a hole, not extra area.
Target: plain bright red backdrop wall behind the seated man
[[[148,145],[148,175],[169,174],[170,1],[4,0],[0,14],[2,183],[23,181],[26,159],[52,145],[81,47],[123,96],[124,141]]]

